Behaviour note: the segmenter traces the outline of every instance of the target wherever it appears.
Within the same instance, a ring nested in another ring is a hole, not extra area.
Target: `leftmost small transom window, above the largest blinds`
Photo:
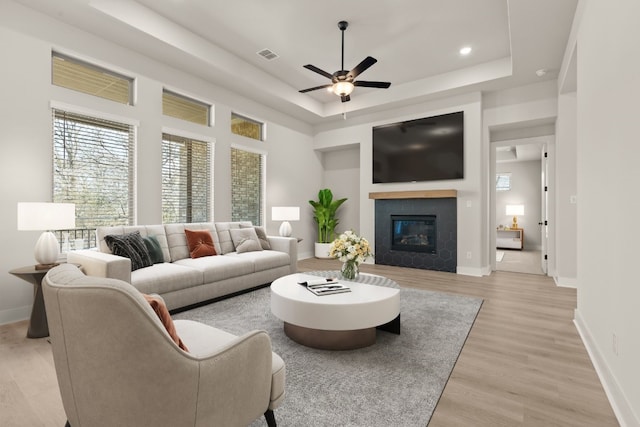
[[[95,65],[51,53],[51,83],[121,104],[133,104],[133,79]]]

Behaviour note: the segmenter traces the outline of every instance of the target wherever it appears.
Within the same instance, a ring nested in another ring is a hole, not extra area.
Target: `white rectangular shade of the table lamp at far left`
[[[67,230],[76,226],[73,203],[18,203],[18,230]]]

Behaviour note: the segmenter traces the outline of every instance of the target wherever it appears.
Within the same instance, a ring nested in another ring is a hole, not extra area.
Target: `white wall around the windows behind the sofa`
[[[267,155],[265,224],[277,234],[279,222],[271,221],[271,206],[308,205],[322,185],[322,159],[311,149],[309,125],[261,106],[167,65],[111,44],[90,34],[25,9],[13,2],[0,3],[0,324],[28,318],[33,287],[10,275],[12,268],[34,264],[37,232],[16,230],[19,201],[52,199],[52,102],[98,115],[108,114],[138,123],[137,220],[140,224],[161,222],[161,144],[163,130],[215,141],[214,212],[216,221],[231,216],[230,147],[257,150]],[[107,66],[136,79],[136,105],[126,106],[69,91],[50,84],[51,50]],[[210,102],[215,125],[204,127],[161,114],[163,86]],[[232,135],[231,110],[264,120],[264,142]],[[292,177],[294,177],[292,179]],[[295,185],[292,183],[295,182]],[[312,253],[315,227],[310,218],[292,224],[303,238],[300,252]],[[26,332],[26,331],[25,331]]]

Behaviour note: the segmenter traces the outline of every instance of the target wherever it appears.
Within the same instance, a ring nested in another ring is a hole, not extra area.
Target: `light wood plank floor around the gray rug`
[[[335,260],[299,263],[300,271],[339,267]],[[572,322],[575,290],[502,271],[469,277],[369,264],[361,271],[484,299],[429,427],[618,425]],[[0,426],[62,427],[49,343],[25,338],[26,328],[0,326]]]

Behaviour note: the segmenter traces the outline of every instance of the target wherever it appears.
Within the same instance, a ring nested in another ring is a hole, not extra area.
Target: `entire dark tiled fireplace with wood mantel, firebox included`
[[[376,264],[456,272],[455,191],[372,193],[369,197],[376,199]],[[395,241],[394,231],[398,231]],[[403,239],[406,244],[398,245]]]

